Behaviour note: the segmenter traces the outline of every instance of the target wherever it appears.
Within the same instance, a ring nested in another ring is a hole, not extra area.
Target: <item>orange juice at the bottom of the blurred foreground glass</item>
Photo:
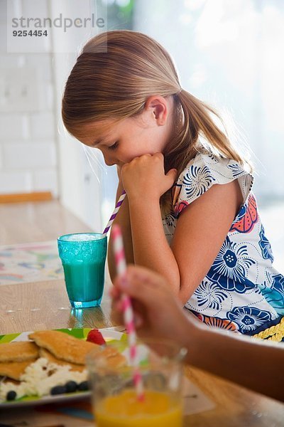
[[[138,401],[134,389],[109,396],[95,406],[97,427],[182,427],[182,402],[160,391],[145,391]]]

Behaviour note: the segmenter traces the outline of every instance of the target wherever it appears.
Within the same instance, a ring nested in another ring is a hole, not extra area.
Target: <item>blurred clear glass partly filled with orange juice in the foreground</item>
[[[111,354],[104,357],[104,354]],[[182,427],[182,361],[187,350],[170,340],[143,339],[137,343],[143,399],[133,383],[126,340],[111,342],[87,355],[92,404],[97,427]],[[122,357],[121,357],[122,355]]]

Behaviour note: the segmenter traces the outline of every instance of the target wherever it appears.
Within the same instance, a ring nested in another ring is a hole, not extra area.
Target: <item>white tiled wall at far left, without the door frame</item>
[[[1,0],[0,3],[4,4]],[[23,6],[21,0],[14,3],[17,7]],[[34,1],[33,6],[37,3]],[[41,8],[44,3],[47,1],[40,1]],[[2,9],[0,27],[4,30],[6,13]],[[11,112],[0,112],[0,194],[52,191],[53,196],[58,196],[52,56],[50,53],[7,53],[5,34],[1,41],[0,73],[18,70],[15,76],[18,74],[21,79],[25,70],[34,70],[37,99],[29,108],[16,106]]]

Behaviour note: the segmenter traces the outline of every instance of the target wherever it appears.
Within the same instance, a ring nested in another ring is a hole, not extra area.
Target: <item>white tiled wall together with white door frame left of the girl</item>
[[[20,53],[7,49],[6,36],[11,16],[62,14],[74,20],[96,13],[96,2],[9,0],[8,5],[9,19],[7,2],[0,0],[0,194],[51,191],[94,231],[102,231],[102,170],[93,162],[92,172],[82,144],[67,134],[61,119],[67,77],[98,28],[49,28],[43,43],[30,37]]]

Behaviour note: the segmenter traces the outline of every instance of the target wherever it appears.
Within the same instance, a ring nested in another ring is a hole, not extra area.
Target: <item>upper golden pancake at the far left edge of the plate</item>
[[[0,344],[0,363],[26,362],[38,358],[38,346],[34,342],[4,342]]]

